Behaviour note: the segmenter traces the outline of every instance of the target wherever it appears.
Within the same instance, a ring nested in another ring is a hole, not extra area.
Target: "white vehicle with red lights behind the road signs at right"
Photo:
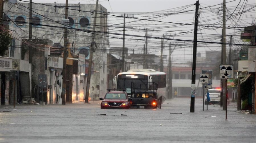
[[[220,104],[221,102],[221,89],[208,89],[210,101],[208,104]],[[204,105],[207,104],[207,93],[204,98]]]

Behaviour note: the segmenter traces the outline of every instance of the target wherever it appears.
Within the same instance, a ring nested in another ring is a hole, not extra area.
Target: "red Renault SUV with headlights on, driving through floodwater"
[[[108,90],[104,98],[100,98],[100,100],[103,100],[100,104],[100,109],[129,109],[131,106],[131,99],[128,98],[125,90]]]

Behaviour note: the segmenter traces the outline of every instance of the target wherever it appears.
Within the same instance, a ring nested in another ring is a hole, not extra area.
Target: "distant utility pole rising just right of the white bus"
[[[168,72],[168,99],[172,99],[173,98],[173,87],[172,87],[172,61],[171,61],[171,54],[172,54],[172,50],[171,50],[171,42],[169,44],[169,72]]]

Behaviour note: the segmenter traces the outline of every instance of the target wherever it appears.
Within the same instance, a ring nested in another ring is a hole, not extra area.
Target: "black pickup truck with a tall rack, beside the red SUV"
[[[144,87],[144,88],[141,88]],[[146,87],[146,88],[145,88]],[[131,108],[159,108],[161,109],[161,97],[158,98],[156,83],[132,83]]]

